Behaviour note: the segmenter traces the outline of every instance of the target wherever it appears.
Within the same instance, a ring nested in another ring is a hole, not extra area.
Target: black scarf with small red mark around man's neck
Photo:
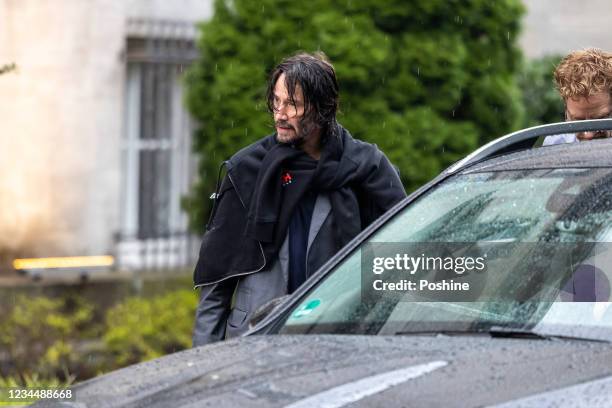
[[[359,203],[351,190],[355,164],[343,159],[344,129],[326,135],[319,161],[289,144],[266,140],[263,158],[248,207],[245,235],[262,243],[266,259],[278,252],[287,234],[291,215],[308,190],[327,192],[336,222],[334,231],[343,246],[361,231]],[[288,180],[283,180],[283,176]],[[288,176],[288,177],[287,177]],[[356,218],[355,218],[356,217]]]

